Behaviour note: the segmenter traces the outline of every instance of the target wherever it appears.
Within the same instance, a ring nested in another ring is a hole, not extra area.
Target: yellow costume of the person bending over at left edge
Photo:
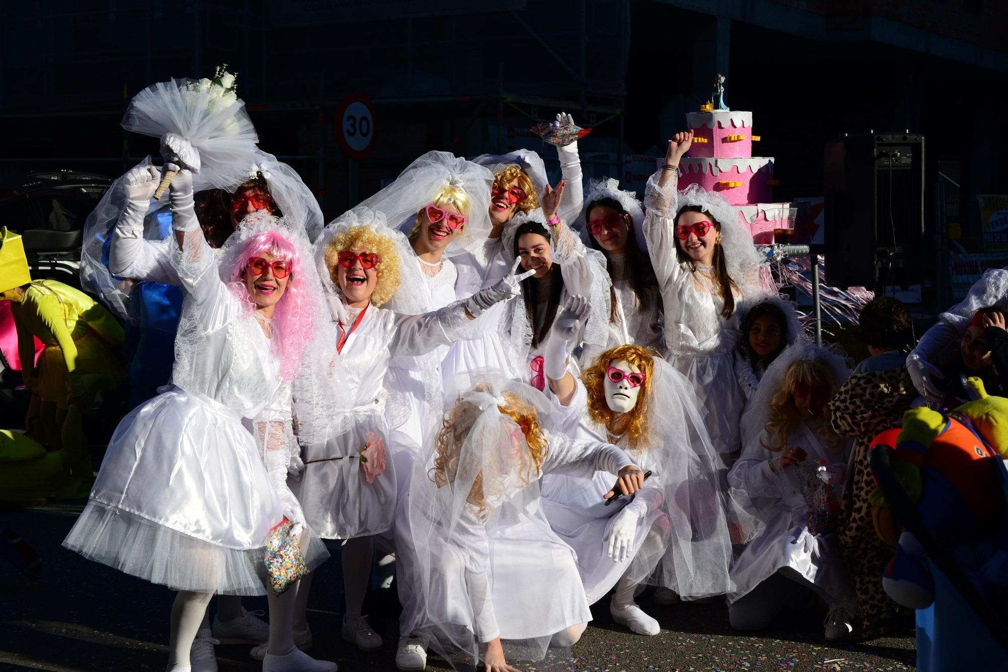
[[[84,292],[54,280],[35,281],[25,289],[21,303],[12,303],[11,313],[21,374],[43,402],[68,408],[72,398],[90,402],[98,390],[119,384],[122,369],[109,346],[122,346],[123,328]],[[37,367],[31,366],[32,335],[45,345]],[[32,375],[37,381],[30,380]]]

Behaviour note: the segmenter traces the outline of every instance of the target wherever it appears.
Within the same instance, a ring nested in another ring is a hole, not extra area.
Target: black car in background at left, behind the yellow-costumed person
[[[23,236],[36,280],[81,287],[84,220],[113,178],[75,170],[38,170],[0,179],[0,222]]]

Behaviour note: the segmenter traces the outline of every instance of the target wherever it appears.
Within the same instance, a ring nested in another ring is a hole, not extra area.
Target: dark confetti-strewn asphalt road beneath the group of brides
[[[164,669],[173,595],[62,548],[59,544],[82,508],[83,502],[74,502],[0,511],[0,524],[20,532],[41,555],[44,570],[42,580],[30,582],[0,560],[0,670]],[[399,611],[394,589],[368,596],[365,613],[386,645],[363,654],[340,637],[339,553],[319,571],[308,617],[316,643],[311,655],[337,661],[343,672],[394,670]],[[821,613],[787,615],[773,630],[751,637],[731,629],[721,604],[660,608],[646,594],[640,604],[661,623],[659,635],[641,637],[615,625],[608,599],[603,599],[571,658],[520,667],[536,672],[914,669],[909,632],[866,644],[828,646],[822,639]],[[264,610],[266,601],[249,599],[245,606]],[[218,647],[221,671],[259,670],[248,649]],[[431,657],[427,669],[451,668]]]

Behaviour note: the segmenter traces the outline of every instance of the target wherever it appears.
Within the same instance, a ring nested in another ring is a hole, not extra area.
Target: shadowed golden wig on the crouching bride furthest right
[[[796,385],[826,385],[830,388],[832,397],[838,388],[833,371],[821,359],[797,359],[791,362],[784,374],[784,381],[770,399],[770,422],[766,424],[766,437],[760,439],[760,445],[768,451],[776,453],[783,450],[791,442],[791,435],[798,427],[801,418],[794,406],[793,393]],[[829,451],[836,451],[841,446],[841,439],[833,433],[830,425],[830,405],[823,406],[824,422],[815,434],[823,440],[823,446]],[[766,440],[770,440],[767,445]]]

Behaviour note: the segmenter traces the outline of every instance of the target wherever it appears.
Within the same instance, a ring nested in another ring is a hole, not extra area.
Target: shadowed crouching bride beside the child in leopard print
[[[835,516],[851,442],[833,434],[824,411],[850,369],[811,344],[785,354],[786,368],[769,371],[760,383],[761,390],[776,390],[761,412],[765,430],[728,475],[732,487],[751,498],[761,525],[732,567],[729,615],[739,630],[764,628],[800,601],[801,586],[830,606],[827,639],[846,639],[857,602],[841,562]]]

